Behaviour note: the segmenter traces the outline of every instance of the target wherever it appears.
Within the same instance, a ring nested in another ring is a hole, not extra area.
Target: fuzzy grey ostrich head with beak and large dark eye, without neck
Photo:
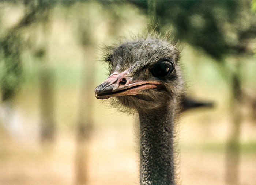
[[[165,38],[147,36],[106,47],[109,77],[95,88],[114,107],[148,111],[177,101],[183,89],[180,54]],[[127,109],[125,109],[127,110]]]

